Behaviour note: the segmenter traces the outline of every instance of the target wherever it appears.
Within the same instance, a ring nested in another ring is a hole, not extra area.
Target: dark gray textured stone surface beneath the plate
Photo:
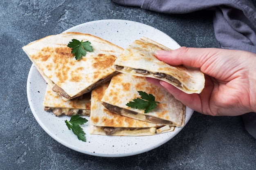
[[[0,3],[0,169],[1,170],[255,170],[256,139],[241,117],[194,113],[166,144],[140,155],[103,158],[84,155],[52,139],[34,119],[26,83],[31,61],[21,47],[72,26],[124,19],[153,26],[181,46],[217,47],[212,13],[167,15],[110,0],[9,0]]]

